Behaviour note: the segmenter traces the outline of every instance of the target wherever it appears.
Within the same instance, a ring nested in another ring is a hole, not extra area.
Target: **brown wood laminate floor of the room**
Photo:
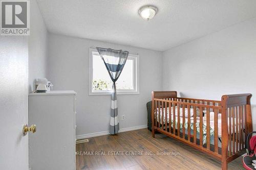
[[[147,129],[89,138],[76,151],[77,170],[221,169],[220,161],[163,134],[152,138]],[[244,169],[241,161],[233,160],[228,169]]]

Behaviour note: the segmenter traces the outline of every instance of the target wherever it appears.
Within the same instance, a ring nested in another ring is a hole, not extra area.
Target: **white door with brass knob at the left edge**
[[[28,42],[24,36],[0,36],[0,169],[29,168]]]

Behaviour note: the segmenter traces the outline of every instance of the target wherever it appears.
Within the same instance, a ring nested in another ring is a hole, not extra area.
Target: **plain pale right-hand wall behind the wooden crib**
[[[256,129],[256,18],[165,51],[162,70],[163,90],[185,97],[252,93]]]

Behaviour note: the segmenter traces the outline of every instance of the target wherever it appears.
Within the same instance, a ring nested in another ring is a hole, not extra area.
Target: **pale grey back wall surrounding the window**
[[[110,47],[139,53],[140,94],[118,95],[120,129],[147,124],[146,102],[162,87],[162,53],[143,48],[49,34],[47,78],[54,90],[75,90],[78,95],[76,135],[109,131],[110,95],[89,96],[89,48]]]

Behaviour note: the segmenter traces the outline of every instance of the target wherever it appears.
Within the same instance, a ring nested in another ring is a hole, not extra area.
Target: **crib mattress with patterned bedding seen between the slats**
[[[187,131],[188,126],[190,126],[191,131],[194,131],[194,109],[191,108],[190,109],[190,125],[188,125],[188,111],[187,108],[184,109],[185,111],[185,124],[184,124],[184,128]],[[182,130],[182,126],[183,126],[183,109],[180,108],[180,125],[178,125],[178,108],[176,106],[175,108],[175,129],[180,129]],[[159,113],[158,108],[157,108],[157,113]],[[170,121],[170,125],[173,127],[173,107],[171,108],[171,113],[170,113],[170,120],[169,120],[169,108],[167,107],[167,123],[169,123]],[[196,128],[197,128],[197,132],[200,133],[200,111],[199,109],[197,109],[197,119],[195,121],[196,123]],[[203,116],[203,144],[206,143],[206,112],[204,112],[204,116]],[[214,112],[209,112],[210,114],[210,135],[214,135]],[[163,109],[163,123],[165,123],[165,108]],[[157,114],[157,122],[159,122],[159,114]],[[162,124],[162,109],[160,108],[160,124]],[[218,114],[218,137],[221,137],[221,113]]]

